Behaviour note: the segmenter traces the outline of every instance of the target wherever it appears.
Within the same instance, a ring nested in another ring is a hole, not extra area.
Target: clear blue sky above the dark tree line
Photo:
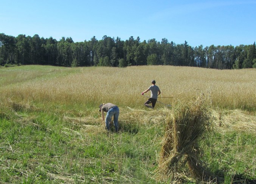
[[[0,0],[0,7],[0,33],[15,37],[133,36],[193,47],[256,41],[256,0]]]

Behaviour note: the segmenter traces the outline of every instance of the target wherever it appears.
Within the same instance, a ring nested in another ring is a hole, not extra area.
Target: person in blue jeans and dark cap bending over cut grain
[[[119,108],[115,104],[112,103],[106,103],[106,104],[100,104],[99,105],[99,111],[101,112],[102,115],[102,121],[104,121],[104,112],[107,112],[106,115],[106,128],[107,130],[110,129],[110,121],[112,116],[114,117],[114,125],[115,125],[115,130],[118,132],[118,117],[119,117]]]

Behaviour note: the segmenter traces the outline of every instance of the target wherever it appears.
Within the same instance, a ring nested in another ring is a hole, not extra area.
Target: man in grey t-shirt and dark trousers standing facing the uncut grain
[[[161,94],[161,91],[158,86],[155,85],[155,80],[151,82],[152,86],[149,87],[149,89],[143,91],[141,95],[144,95],[144,93],[148,92],[149,90],[151,91],[151,96],[150,98],[144,103],[146,107],[154,109],[155,103],[157,103],[157,96]],[[152,106],[149,104],[152,103]]]

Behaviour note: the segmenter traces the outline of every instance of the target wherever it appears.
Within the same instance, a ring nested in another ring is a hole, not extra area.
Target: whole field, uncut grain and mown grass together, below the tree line
[[[155,110],[140,95],[152,79],[162,97],[173,97],[159,98]],[[225,183],[254,179],[255,89],[254,69],[2,67],[0,181],[166,183],[154,172],[172,113],[164,104],[187,103],[201,91],[214,122],[211,139],[200,144],[203,161]],[[119,133],[101,123],[98,105],[106,102],[120,107]]]

